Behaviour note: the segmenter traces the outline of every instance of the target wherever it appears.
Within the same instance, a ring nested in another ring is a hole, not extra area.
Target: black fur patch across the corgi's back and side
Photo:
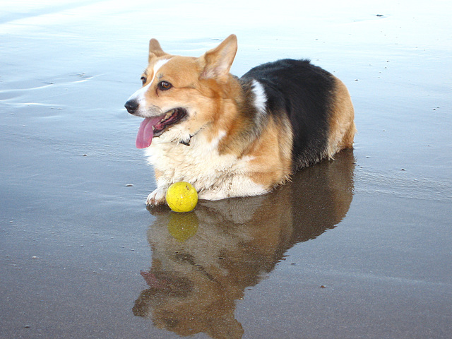
[[[334,78],[309,60],[283,59],[254,67],[240,78],[265,89],[268,114],[287,114],[292,124],[293,169],[326,157]]]

